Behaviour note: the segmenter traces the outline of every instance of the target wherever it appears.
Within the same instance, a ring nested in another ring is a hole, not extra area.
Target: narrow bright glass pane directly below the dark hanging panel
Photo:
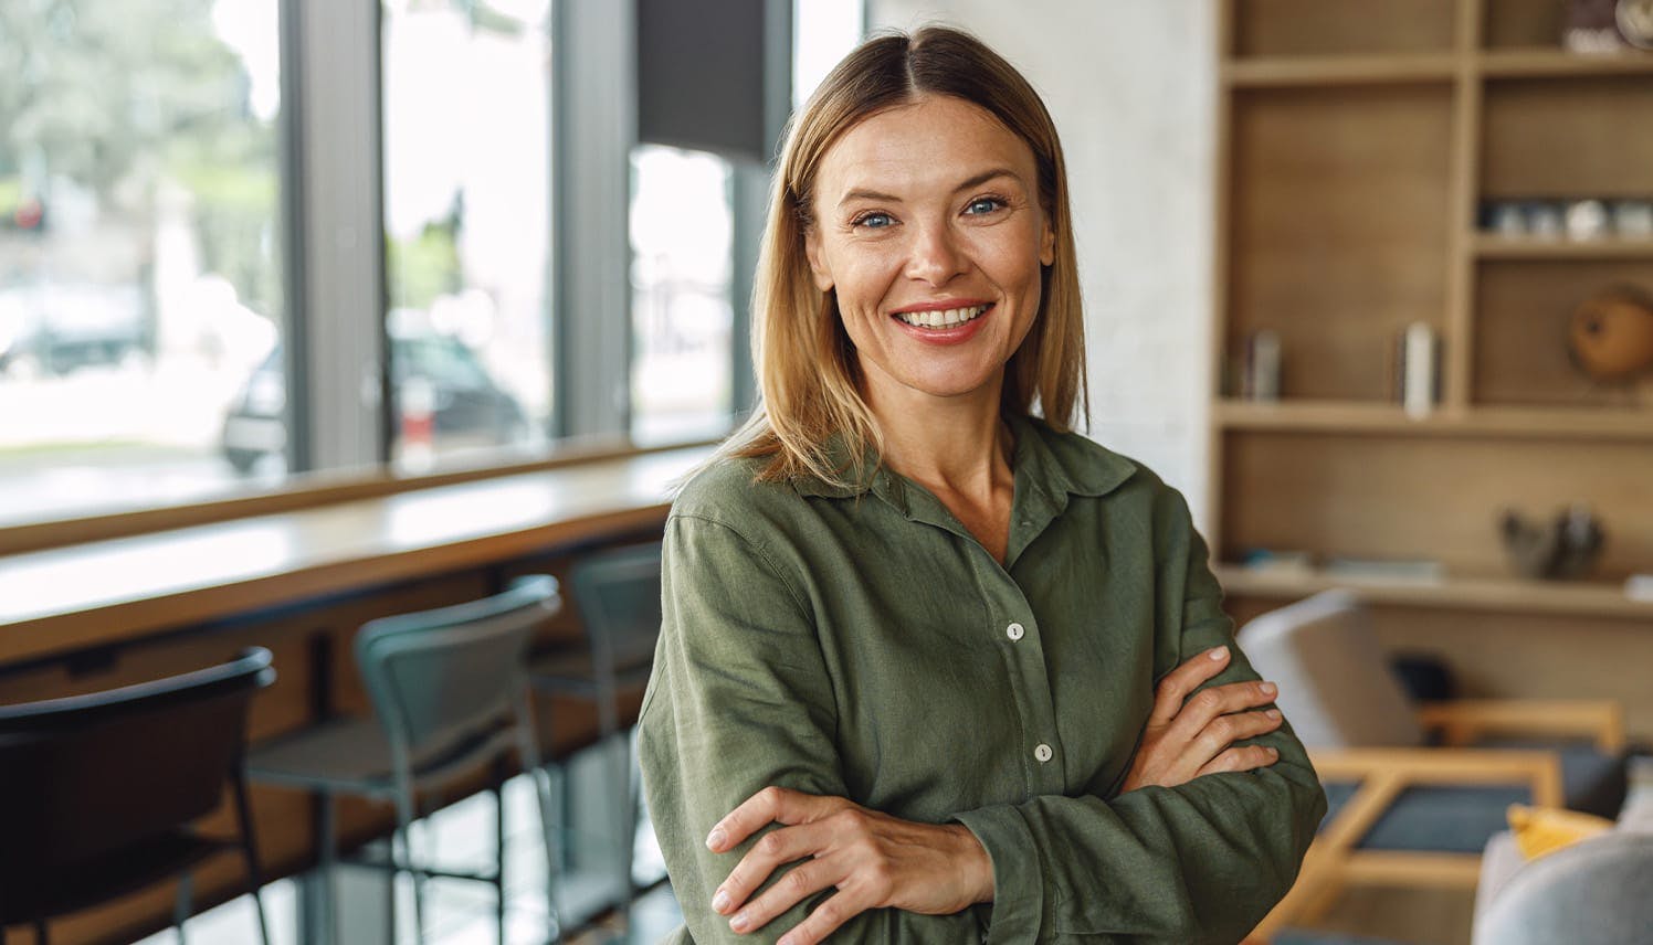
[[[729,431],[734,378],[729,162],[631,152],[631,439]]]

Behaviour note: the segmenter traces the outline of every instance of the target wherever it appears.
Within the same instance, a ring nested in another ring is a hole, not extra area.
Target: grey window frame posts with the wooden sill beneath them
[[[0,529],[0,555],[681,446],[638,449],[626,438],[635,5],[552,0],[550,446],[531,459],[455,459],[410,474],[390,463],[383,8],[380,0],[273,2],[281,36],[278,226],[288,479],[198,501],[8,525]],[[793,15],[792,0],[765,3],[765,122],[779,150],[790,114]],[[598,101],[590,89],[610,89],[610,97]],[[737,426],[757,403],[749,301],[774,157],[767,165],[732,164],[731,420]],[[580,221],[577,231],[574,221]],[[595,238],[592,221],[598,221]]]

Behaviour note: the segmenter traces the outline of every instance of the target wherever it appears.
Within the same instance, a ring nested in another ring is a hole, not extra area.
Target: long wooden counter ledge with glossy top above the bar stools
[[[33,661],[665,520],[688,446],[0,557],[0,662]]]

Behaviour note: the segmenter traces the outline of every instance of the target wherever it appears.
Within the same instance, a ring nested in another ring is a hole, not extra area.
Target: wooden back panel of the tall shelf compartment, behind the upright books
[[[1225,347],[1273,329],[1281,395],[1387,400],[1395,335],[1446,309],[1450,88],[1236,94]]]

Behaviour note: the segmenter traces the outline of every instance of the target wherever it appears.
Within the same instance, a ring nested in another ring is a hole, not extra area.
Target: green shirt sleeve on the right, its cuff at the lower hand
[[[1172,629],[1160,629],[1157,671],[1227,644],[1233,659],[1207,686],[1255,681],[1222,610],[1205,542],[1182,496],[1165,494],[1160,620]],[[1271,745],[1279,758],[1174,788],[1035,796],[959,813],[993,861],[987,942],[1245,938],[1291,889],[1326,795],[1288,725],[1243,743]]]

